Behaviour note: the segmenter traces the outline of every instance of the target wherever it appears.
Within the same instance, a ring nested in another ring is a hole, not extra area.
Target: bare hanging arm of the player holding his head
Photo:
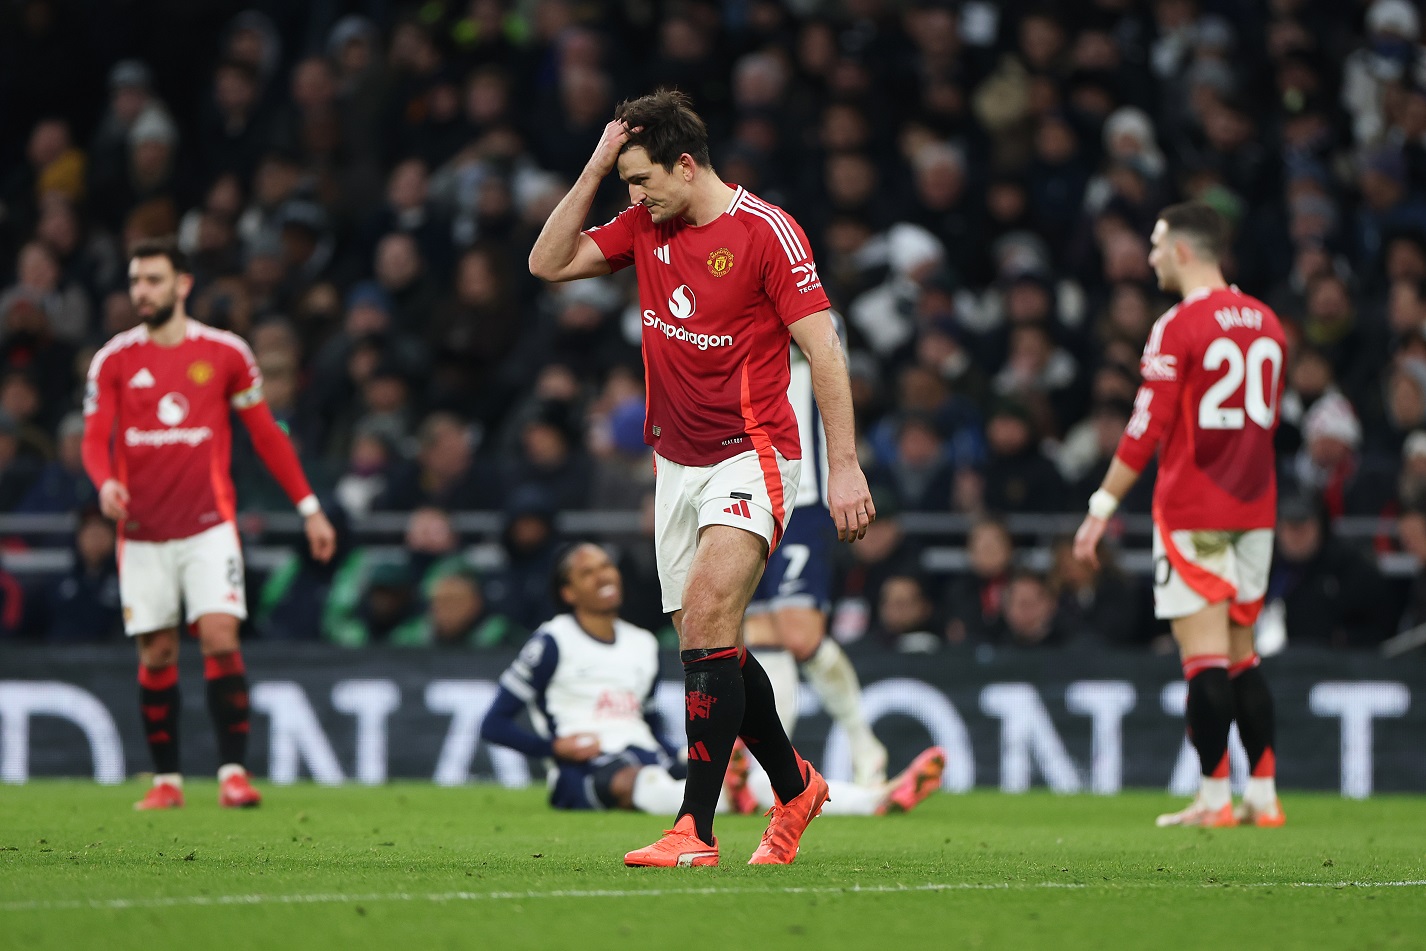
[[[856,542],[866,538],[867,526],[877,518],[877,508],[857,461],[851,382],[841,338],[830,311],[809,314],[790,329],[811,366],[811,392],[827,436],[827,509],[837,526],[837,540]]]

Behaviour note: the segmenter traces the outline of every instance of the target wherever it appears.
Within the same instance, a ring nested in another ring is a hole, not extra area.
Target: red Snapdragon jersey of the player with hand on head
[[[645,442],[684,466],[769,443],[800,459],[787,328],[831,305],[797,222],[730,185],[727,210],[706,225],[655,224],[630,205],[585,234],[612,269],[637,265]]]

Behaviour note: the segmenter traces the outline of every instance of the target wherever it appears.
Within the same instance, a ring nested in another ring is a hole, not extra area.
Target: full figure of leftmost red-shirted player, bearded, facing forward
[[[241,336],[191,319],[184,311],[191,289],[187,261],[173,244],[137,245],[128,294],[143,322],[94,355],[84,392],[84,469],[104,515],[118,523],[124,629],[138,642],[140,710],[154,756],[154,786],[135,808],[183,806],[181,620],[204,654],[218,734],[218,801],[261,801],[245,767],[248,682],[238,624],[247,606],[230,473],[231,412],[305,518],[312,556],[325,562],[337,545],[292,443],[262,399],[252,351]]]

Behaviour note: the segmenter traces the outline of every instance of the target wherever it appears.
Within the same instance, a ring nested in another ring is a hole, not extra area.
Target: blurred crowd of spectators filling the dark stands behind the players
[[[341,523],[331,567],[254,573],[252,636],[519,643],[556,513],[647,532],[652,488],[632,275],[545,287],[525,259],[615,104],[676,86],[846,318],[881,520],[843,552],[838,637],[1162,646],[1147,575],[1001,516],[1082,512],[1172,304],[1148,232],[1201,198],[1292,344],[1269,615],[1376,644],[1426,622],[1422,30],[1409,0],[4,4],[0,513],[80,519],[71,569],[0,573],[0,637],[118,636],[78,398],[135,322],[125,245],[177,234],[190,312],[251,342]],[[626,202],[610,180],[590,224]],[[241,432],[234,455],[244,512],[288,510]],[[399,546],[361,543],[371,512],[411,513]],[[918,512],[974,518],[964,570],[927,570]],[[1360,516],[1376,536],[1339,538]],[[663,629],[652,546],[620,560]]]

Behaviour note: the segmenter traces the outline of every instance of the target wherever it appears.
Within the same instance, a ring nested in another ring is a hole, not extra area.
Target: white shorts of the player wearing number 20
[[[1232,623],[1252,626],[1271,567],[1272,529],[1181,529],[1165,536],[1155,523],[1154,615],[1188,617],[1226,600]]]

